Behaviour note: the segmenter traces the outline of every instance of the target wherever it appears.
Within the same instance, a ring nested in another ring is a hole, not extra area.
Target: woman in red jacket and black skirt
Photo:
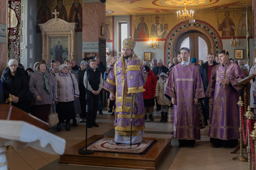
[[[155,97],[156,97],[156,76],[148,66],[145,66],[145,69],[148,73],[148,78],[146,84],[143,86],[146,91],[143,92],[144,98],[144,107],[145,107],[145,120],[147,119],[147,111],[149,112],[149,120],[154,121],[153,118],[153,109],[155,106]]]

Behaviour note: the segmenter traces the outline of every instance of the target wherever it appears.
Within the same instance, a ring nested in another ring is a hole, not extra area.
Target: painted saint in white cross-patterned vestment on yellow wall
[[[160,22],[160,15],[156,15],[155,22],[151,26],[150,30],[150,38],[162,38],[161,34],[163,34],[164,26]]]

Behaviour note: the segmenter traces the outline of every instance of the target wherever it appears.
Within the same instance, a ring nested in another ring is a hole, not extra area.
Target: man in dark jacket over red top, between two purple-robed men
[[[206,89],[208,87],[208,84],[210,82],[210,78],[211,78],[211,72],[212,69],[215,65],[218,65],[218,63],[216,63],[214,60],[214,55],[212,53],[208,54],[207,56],[207,62],[205,62],[204,64],[201,65],[200,68],[200,74],[201,74],[201,78],[203,81],[203,85],[204,85],[204,92],[206,92]],[[204,109],[205,109],[205,114],[207,119],[209,119],[209,97],[205,96],[204,99]]]

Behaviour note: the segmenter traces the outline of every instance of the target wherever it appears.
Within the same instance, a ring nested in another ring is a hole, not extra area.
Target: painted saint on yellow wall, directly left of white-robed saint
[[[144,17],[140,17],[140,23],[137,26],[137,29],[134,25],[134,35],[133,38],[134,39],[145,39],[145,38],[149,38],[149,32],[148,32],[148,26],[147,24],[144,22],[147,18]]]

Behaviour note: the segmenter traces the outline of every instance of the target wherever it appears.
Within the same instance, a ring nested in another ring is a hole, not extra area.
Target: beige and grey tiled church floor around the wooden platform
[[[103,115],[97,115],[96,122],[100,127],[88,129],[87,137],[93,135],[114,135],[114,116],[107,113],[108,108],[103,110]],[[169,108],[168,122],[160,123],[160,111],[154,111],[155,121],[145,121],[145,137],[171,138],[173,131],[173,109]],[[79,121],[79,116],[76,117]],[[209,122],[208,122],[209,124]],[[71,131],[64,129],[57,132],[56,127],[50,128],[49,132],[66,139],[66,149],[85,140],[85,123],[78,123],[78,127],[73,127]],[[172,148],[168,152],[157,170],[246,170],[248,163],[239,163],[232,158],[239,154],[230,154],[234,148],[214,148],[208,137],[209,126],[201,129],[201,140],[196,141],[194,148],[178,147],[178,140],[172,139]],[[124,168],[98,167],[98,166],[80,166],[59,164],[60,155],[52,155],[37,151],[32,148],[26,148],[22,151],[6,151],[8,168],[10,170],[121,170]],[[247,153],[244,150],[244,156]]]

